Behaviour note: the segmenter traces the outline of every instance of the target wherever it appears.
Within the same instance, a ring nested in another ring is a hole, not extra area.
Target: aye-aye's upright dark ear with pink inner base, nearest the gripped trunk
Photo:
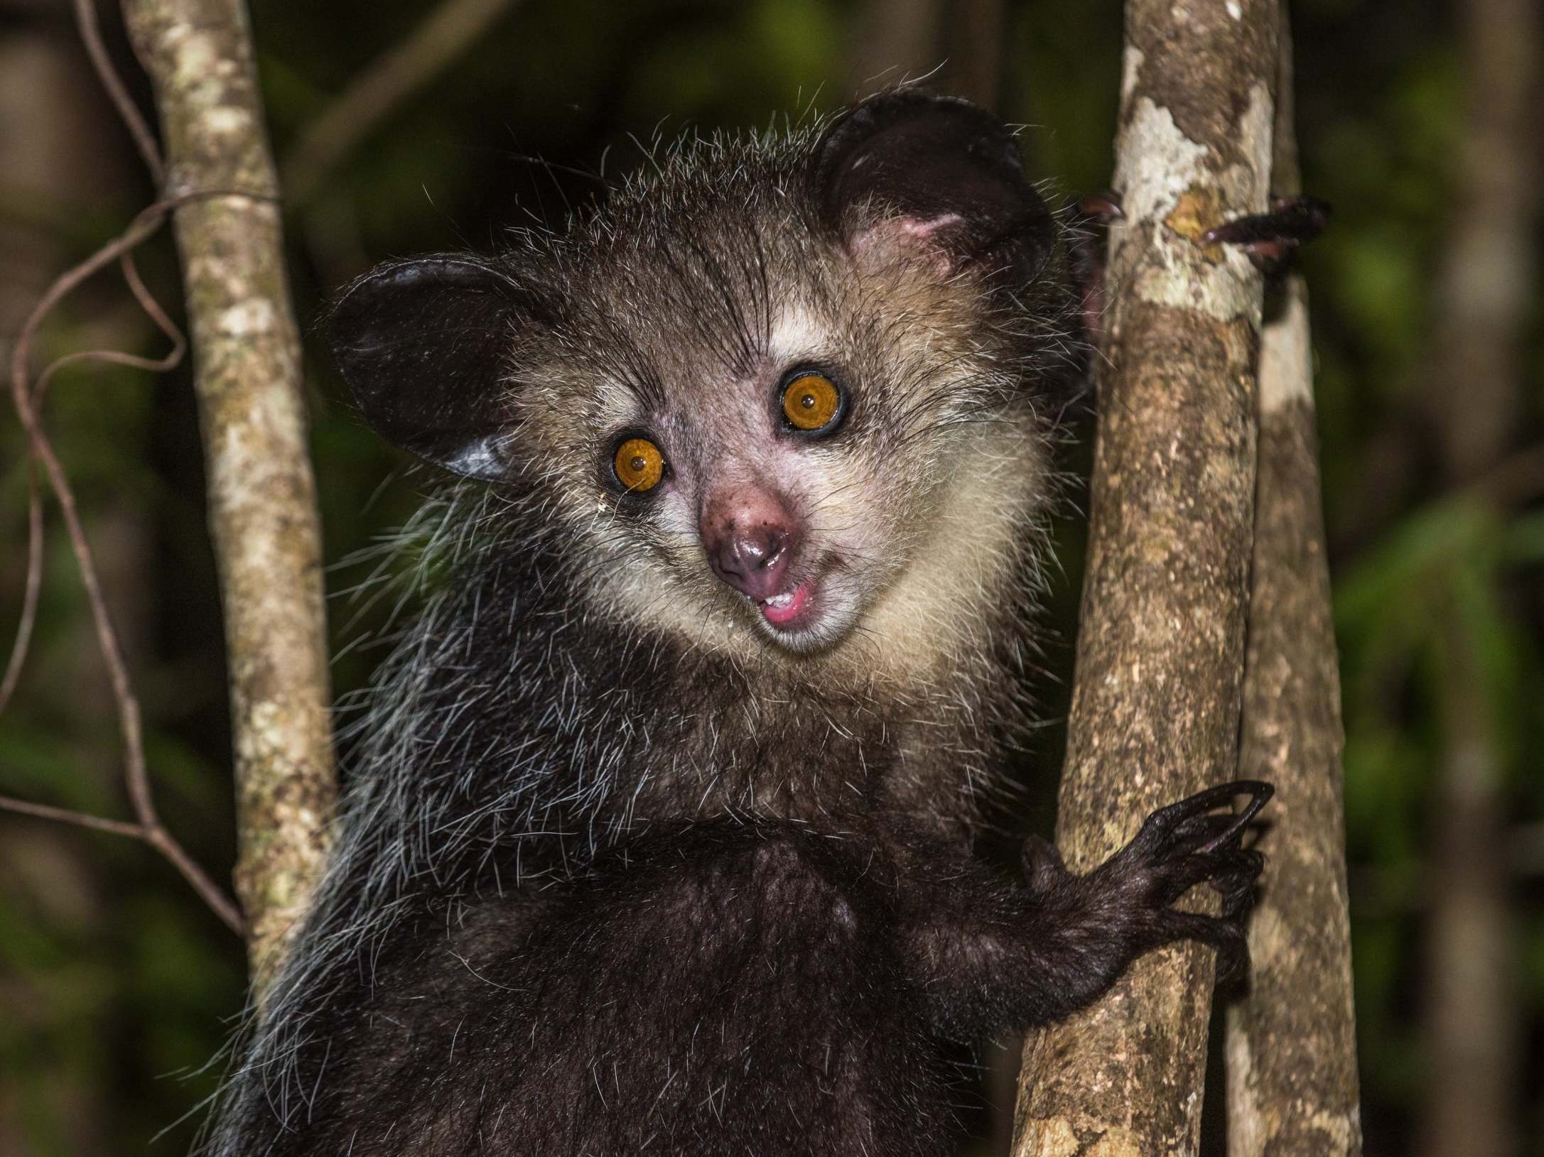
[[[1024,285],[1055,247],[1017,142],[968,100],[917,89],[869,97],[826,130],[812,180],[821,222],[849,250],[926,247]]]

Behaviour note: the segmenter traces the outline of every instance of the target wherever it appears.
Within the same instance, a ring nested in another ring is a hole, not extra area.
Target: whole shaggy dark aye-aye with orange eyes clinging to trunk
[[[1064,233],[1002,123],[892,91],[343,292],[364,418],[480,481],[420,520],[212,1152],[942,1154],[940,1041],[1238,950],[1265,785],[1084,876],[971,853],[1085,361]]]

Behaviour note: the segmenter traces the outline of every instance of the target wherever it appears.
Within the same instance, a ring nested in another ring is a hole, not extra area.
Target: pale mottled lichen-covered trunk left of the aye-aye
[[[236,892],[261,992],[334,805],[321,532],[278,187],[241,0],[125,0],[182,255],[236,745]]]

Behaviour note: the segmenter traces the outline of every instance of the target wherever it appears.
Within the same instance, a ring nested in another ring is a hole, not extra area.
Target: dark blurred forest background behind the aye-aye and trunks
[[[1484,253],[1464,248],[1465,228],[1505,205],[1487,201],[1487,190],[1510,180],[1532,193],[1544,176],[1536,131],[1533,156],[1473,148],[1501,99],[1498,77],[1530,86],[1535,108],[1544,93],[1529,43],[1538,20],[1508,23],[1530,6],[1292,5],[1305,185],[1336,207],[1331,231],[1300,267],[1314,310],[1342,649],[1371,1154],[1422,1151],[1430,1106],[1454,1072],[1479,1074],[1502,1098],[1516,1154],[1544,1154],[1536,194],[1492,222],[1505,227],[1498,251],[1464,256]],[[1115,0],[505,3],[477,43],[357,150],[307,171],[296,154],[307,126],[432,8],[264,0],[253,11],[275,151],[290,190],[304,193],[287,216],[289,256],[307,329],[340,696],[380,659],[371,637],[386,609],[350,597],[369,568],[347,560],[400,525],[431,480],[406,469],[343,398],[315,339],[337,285],[388,256],[488,248],[508,225],[560,222],[599,194],[602,170],[621,176],[682,133],[800,120],[940,63],[936,88],[1028,126],[1025,154],[1056,196],[1110,180]],[[116,11],[103,9],[103,20],[148,106]],[[0,356],[9,358],[8,338],[48,281],[153,197],[68,3],[0,0]],[[157,296],[176,302],[170,239],[151,242],[141,265]],[[1456,353],[1476,327],[1481,350],[1505,356]],[[100,276],[46,327],[39,355],[103,346],[153,353],[159,342],[120,282]],[[233,859],[230,733],[187,372],[66,370],[48,406],[137,680],[162,815],[224,879]],[[1087,467],[1087,424],[1081,433],[1067,457],[1075,472]],[[1039,756],[1022,768],[1038,801],[1025,822],[1042,830],[1076,629],[1079,495],[1075,487],[1061,525],[1062,568],[1045,612],[1047,724]],[[5,648],[25,543],[23,438],[3,412]],[[0,716],[0,793],[125,815],[117,759],[79,575],[54,532],[37,639]],[[0,1155],[184,1152],[242,987],[242,946],[144,845],[0,815]],[[991,1132],[987,1109],[971,1115]]]

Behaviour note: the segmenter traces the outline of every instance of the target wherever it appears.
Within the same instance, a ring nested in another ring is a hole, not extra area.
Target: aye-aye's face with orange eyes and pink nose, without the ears
[[[631,255],[627,287],[602,292],[611,333],[564,342],[548,389],[514,386],[522,452],[560,475],[554,501],[593,589],[636,622],[821,651],[882,629],[880,595],[919,551],[945,549],[929,534],[940,492],[984,396],[1002,390],[967,341],[968,296],[951,301],[925,258],[829,253],[791,272],[798,259],[758,281],[766,305],[747,290],[713,318],[678,301],[675,262]],[[749,332],[707,339],[736,322]],[[573,353],[596,342],[607,356]],[[917,617],[936,612],[917,599]]]

